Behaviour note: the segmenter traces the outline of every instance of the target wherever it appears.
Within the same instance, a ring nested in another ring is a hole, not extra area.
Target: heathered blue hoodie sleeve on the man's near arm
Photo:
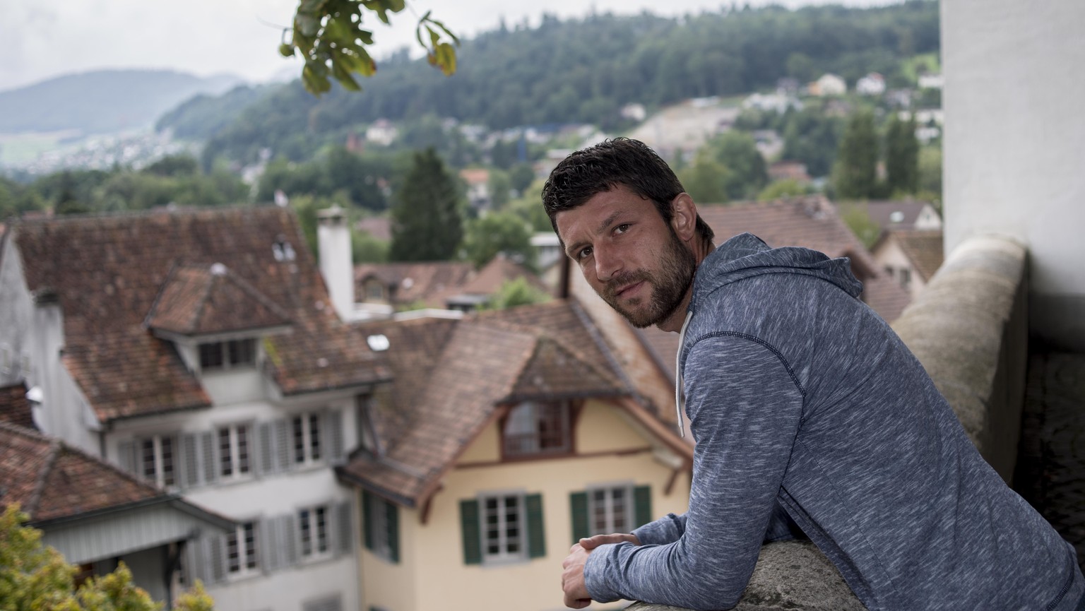
[[[776,349],[736,334],[699,340],[684,374],[697,440],[685,523],[672,521],[677,539],[664,545],[596,548],[584,575],[597,601],[730,609],[757,562],[799,430],[802,389]],[[652,540],[664,539],[651,532]]]

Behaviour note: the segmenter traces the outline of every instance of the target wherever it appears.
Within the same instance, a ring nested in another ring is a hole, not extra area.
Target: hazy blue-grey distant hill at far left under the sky
[[[234,76],[201,78],[173,71],[95,71],[0,91],[0,133],[78,130],[105,133],[149,127],[199,93],[220,94]]]

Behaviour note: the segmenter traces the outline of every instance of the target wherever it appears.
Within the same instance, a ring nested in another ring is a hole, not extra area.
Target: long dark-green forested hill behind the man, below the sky
[[[214,135],[199,128],[215,124],[214,113],[202,120],[201,106],[190,106],[187,130],[209,137],[209,154],[242,158],[259,147],[304,156],[316,142],[381,117],[436,114],[490,128],[552,123],[607,128],[626,103],[653,107],[743,93],[771,88],[784,76],[805,82],[833,72],[854,84],[875,71],[891,87],[904,86],[901,60],[937,48],[934,0],[871,9],[748,8],[682,20],[545,17],[536,28],[501,28],[465,41],[452,77],[400,55],[363,79],[360,94],[336,89],[317,99],[295,81],[234,111],[237,119]],[[166,117],[161,127],[169,126]]]

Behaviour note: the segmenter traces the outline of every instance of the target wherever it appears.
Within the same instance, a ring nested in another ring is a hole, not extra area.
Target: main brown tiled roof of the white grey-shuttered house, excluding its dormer
[[[178,265],[209,269],[222,263],[293,320],[292,332],[264,341],[268,373],[284,394],[390,374],[335,316],[288,209],[23,220],[13,229],[29,289],[56,294],[64,314],[63,362],[102,421],[210,405],[174,345],[143,326]],[[277,259],[272,247],[281,242],[293,244],[295,259]]]

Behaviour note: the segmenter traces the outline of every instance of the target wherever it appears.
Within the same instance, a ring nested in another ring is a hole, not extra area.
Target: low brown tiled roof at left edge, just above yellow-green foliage
[[[31,522],[71,518],[167,494],[60,440],[0,422],[0,506]]]

